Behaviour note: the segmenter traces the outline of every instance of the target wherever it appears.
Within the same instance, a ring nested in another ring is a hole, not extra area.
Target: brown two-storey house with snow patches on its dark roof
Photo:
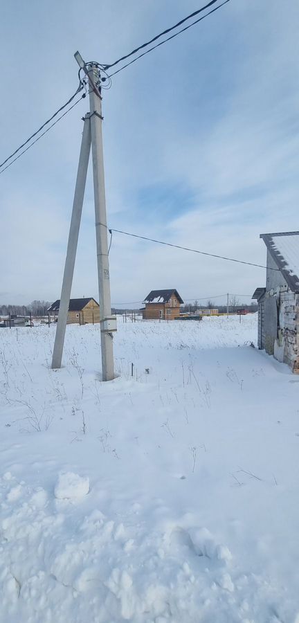
[[[143,301],[144,320],[174,320],[179,318],[183,299],[177,290],[152,290]]]

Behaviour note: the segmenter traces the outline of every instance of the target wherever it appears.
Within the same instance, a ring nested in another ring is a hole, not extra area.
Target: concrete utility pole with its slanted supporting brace
[[[52,368],[60,368],[66,330],[73,270],[77,251],[78,235],[82,215],[87,168],[90,148],[93,156],[93,189],[96,215],[96,247],[98,258],[98,289],[100,303],[100,332],[102,352],[102,380],[114,379],[113,333],[116,331],[116,316],[111,316],[111,295],[109,279],[109,257],[107,242],[107,215],[105,201],[105,177],[102,152],[102,98],[98,87],[100,71],[97,64],[85,64],[76,52],[75,59],[89,79],[90,113],[84,117],[82,145],[78,165],[78,175],[73,201],[73,213],[69,232],[69,243],[64,267],[62,294],[53,350]]]

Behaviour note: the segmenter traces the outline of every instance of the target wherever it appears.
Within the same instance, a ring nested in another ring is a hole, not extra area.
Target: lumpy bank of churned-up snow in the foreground
[[[87,480],[74,473],[60,474],[53,491],[59,498],[11,473],[1,479],[6,623],[274,623],[270,586],[239,573],[226,545],[190,518],[148,530],[100,509],[86,514]]]

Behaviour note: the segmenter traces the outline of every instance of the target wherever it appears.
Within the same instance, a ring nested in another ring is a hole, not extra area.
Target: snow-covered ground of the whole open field
[[[299,377],[257,317],[0,332],[0,621],[299,623]],[[131,376],[134,363],[134,377]]]

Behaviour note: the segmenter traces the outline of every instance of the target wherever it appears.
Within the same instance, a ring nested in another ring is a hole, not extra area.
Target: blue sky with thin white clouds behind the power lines
[[[77,49],[113,62],[204,3],[2,3],[0,160],[75,91]],[[260,233],[299,229],[298,26],[297,0],[231,0],[113,78],[103,101],[109,226],[258,264]],[[60,297],[87,110],[82,100],[0,175],[0,303]],[[252,294],[265,279],[119,234],[110,258],[113,303],[170,287],[184,300]],[[98,298],[90,173],[72,296]]]

